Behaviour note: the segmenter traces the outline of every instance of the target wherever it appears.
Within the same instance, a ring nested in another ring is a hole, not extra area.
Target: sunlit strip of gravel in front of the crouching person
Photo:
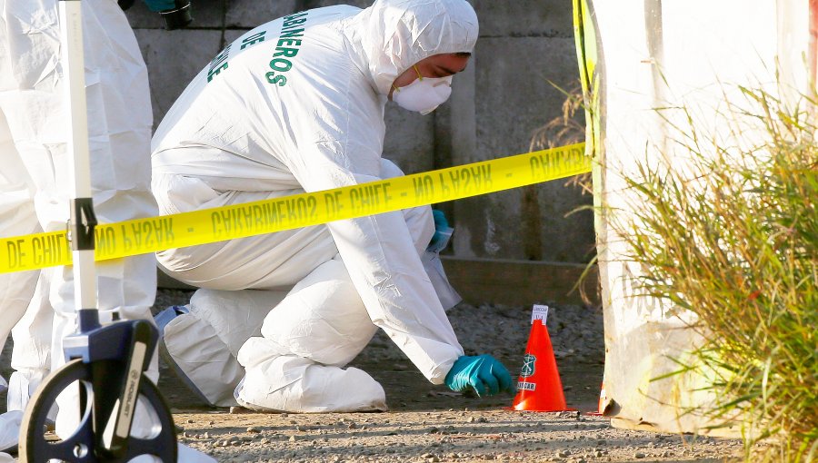
[[[219,461],[723,461],[736,441],[612,429],[576,413],[434,409],[327,415],[180,413],[181,440]]]

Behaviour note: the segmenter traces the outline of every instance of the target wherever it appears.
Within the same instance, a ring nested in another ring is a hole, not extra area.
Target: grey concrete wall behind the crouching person
[[[195,23],[165,31],[137,0],[127,15],[150,73],[155,123],[225,44],[255,25],[305,8],[369,0],[192,0]],[[474,0],[480,39],[467,71],[454,78],[450,103],[427,116],[389,103],[384,156],[422,172],[529,151],[534,131],[559,117],[578,83],[571,3]],[[553,84],[552,84],[553,83]],[[455,257],[584,262],[592,257],[589,211],[564,215],[590,196],[564,182],[441,204],[454,222]]]

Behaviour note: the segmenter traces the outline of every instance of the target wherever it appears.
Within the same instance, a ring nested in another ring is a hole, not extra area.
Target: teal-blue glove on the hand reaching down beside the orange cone
[[[514,392],[508,369],[488,354],[464,355],[455,360],[444,382],[449,389],[458,392],[472,388],[478,396],[493,396],[501,390]]]

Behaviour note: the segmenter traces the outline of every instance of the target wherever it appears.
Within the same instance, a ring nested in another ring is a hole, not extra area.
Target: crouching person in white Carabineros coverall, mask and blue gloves
[[[161,213],[402,175],[381,159],[387,100],[433,111],[476,38],[464,0],[332,6],[247,32],[195,77],[155,133]],[[500,362],[464,356],[432,283],[444,283],[448,298],[445,278],[422,262],[434,232],[431,209],[418,207],[159,252],[168,274],[202,288],[158,317],[165,348],[215,405],[385,409],[380,384],[343,369],[377,328],[434,384],[512,391]]]

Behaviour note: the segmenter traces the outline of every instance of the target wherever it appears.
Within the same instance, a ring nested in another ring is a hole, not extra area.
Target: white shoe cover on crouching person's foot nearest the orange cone
[[[264,338],[247,340],[239,352],[264,351]],[[361,369],[324,366],[294,355],[271,355],[252,365],[235,389],[239,404],[259,411],[329,413],[385,411],[384,388]]]

